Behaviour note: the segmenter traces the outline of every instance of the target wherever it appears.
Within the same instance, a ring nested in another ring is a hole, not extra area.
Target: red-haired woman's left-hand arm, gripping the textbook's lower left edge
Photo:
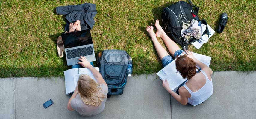
[[[178,95],[177,93],[175,93],[174,91],[172,91],[169,87],[169,84],[167,82],[167,80],[163,80],[163,87],[168,91],[168,93],[170,93],[172,95],[172,97],[174,97],[179,103],[183,104],[183,105],[186,105],[187,102],[188,102],[188,98],[187,96],[185,95],[185,93],[182,91],[180,92],[179,90],[179,93],[180,95]]]

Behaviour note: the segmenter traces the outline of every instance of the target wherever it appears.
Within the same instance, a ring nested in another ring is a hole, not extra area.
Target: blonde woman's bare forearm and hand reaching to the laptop
[[[78,62],[78,64],[82,65],[85,68],[88,68],[93,73],[93,76],[97,80],[98,84],[107,85],[105,80],[102,78],[101,74],[99,73],[99,71],[97,71],[95,68],[93,68],[93,66],[90,64],[90,62],[88,62],[88,60],[85,57],[83,57],[83,56],[80,56],[80,57],[81,58],[79,60],[82,62]]]

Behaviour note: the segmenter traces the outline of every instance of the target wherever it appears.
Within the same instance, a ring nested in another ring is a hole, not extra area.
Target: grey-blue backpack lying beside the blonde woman
[[[127,82],[126,70],[129,57],[123,50],[104,50],[102,56],[98,57],[99,72],[108,86],[108,97],[123,94]]]

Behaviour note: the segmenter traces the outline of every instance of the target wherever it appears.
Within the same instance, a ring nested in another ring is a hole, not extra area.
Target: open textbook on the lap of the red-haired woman
[[[181,53],[181,55],[184,54]],[[193,55],[203,64],[207,65],[208,67],[210,66],[211,57],[197,53],[193,53]],[[176,59],[157,73],[157,76],[159,76],[161,80],[167,80],[171,90],[175,90],[178,86],[180,86],[184,81],[187,80],[187,78],[183,79],[181,74],[177,71],[175,61]]]

